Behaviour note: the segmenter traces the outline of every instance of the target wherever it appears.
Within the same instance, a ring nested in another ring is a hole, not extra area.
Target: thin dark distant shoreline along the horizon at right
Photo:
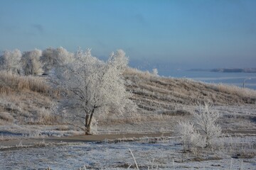
[[[190,72],[225,72],[225,73],[256,73],[256,68],[248,68],[248,69],[188,69]]]

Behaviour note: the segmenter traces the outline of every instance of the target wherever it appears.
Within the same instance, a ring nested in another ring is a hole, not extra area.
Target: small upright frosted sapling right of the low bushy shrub
[[[216,123],[219,117],[218,111],[209,108],[208,103],[205,103],[204,106],[198,106],[198,110],[193,112],[193,121],[196,128],[206,138],[206,147],[210,147],[211,140],[221,134],[221,128]]]

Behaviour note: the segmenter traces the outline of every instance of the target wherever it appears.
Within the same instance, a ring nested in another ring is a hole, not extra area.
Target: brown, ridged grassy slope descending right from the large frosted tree
[[[238,106],[256,103],[256,91],[224,84],[206,84],[191,79],[158,77],[149,72],[127,69],[127,90],[142,111],[186,114],[186,106],[209,103]]]

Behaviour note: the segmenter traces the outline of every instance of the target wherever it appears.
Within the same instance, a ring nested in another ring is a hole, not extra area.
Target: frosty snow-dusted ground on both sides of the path
[[[238,137],[221,137],[212,150],[183,153],[177,138],[151,142],[146,138],[137,142],[87,142],[65,145],[7,148],[0,145],[0,169],[135,169],[132,150],[139,169],[156,166],[158,169],[255,169],[256,136],[255,106],[218,106],[223,116],[219,123],[223,130],[243,130]],[[177,120],[189,115],[167,116],[147,122],[107,124],[97,127],[98,134],[140,132],[173,132]],[[159,117],[157,117],[159,118]],[[67,125],[1,125],[0,142],[33,137],[63,137],[81,135]],[[21,143],[22,145],[22,143]],[[154,164],[152,163],[154,162]],[[131,166],[132,165],[132,166]]]

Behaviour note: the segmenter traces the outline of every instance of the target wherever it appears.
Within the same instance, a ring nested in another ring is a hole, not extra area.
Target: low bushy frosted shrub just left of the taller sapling
[[[190,151],[194,147],[203,147],[205,141],[201,134],[195,129],[193,123],[189,121],[178,121],[176,133],[181,137],[183,152]]]

